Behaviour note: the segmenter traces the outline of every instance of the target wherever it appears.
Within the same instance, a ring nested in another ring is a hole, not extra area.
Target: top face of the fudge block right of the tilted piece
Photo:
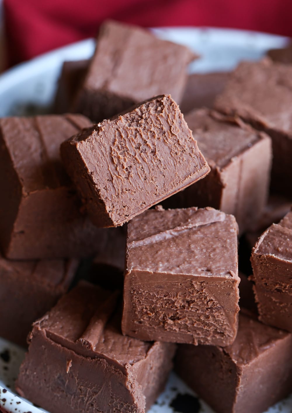
[[[233,157],[265,136],[239,118],[213,110],[194,110],[185,116],[185,120],[209,164],[213,162],[219,168],[224,168]]]

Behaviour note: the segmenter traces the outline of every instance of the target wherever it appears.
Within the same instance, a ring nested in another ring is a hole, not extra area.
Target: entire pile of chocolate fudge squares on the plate
[[[292,66],[196,58],[108,21],[57,114],[0,119],[0,335],[51,413],[144,413],[173,366],[218,413],[292,392]]]

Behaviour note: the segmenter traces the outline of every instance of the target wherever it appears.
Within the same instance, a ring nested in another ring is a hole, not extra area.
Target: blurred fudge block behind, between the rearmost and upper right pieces
[[[180,103],[180,110],[186,114],[192,109],[212,108],[215,97],[223,92],[230,72],[193,73],[187,84]]]

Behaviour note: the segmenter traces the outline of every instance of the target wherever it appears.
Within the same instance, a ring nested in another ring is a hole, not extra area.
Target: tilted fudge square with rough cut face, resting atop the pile
[[[61,156],[100,227],[122,225],[210,171],[169,95],[75,135]]]

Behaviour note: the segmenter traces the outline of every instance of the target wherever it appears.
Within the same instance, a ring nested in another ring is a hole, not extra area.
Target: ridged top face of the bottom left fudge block
[[[152,343],[122,335],[119,301],[117,292],[83,281],[34,326],[77,354],[133,365],[146,357]]]

